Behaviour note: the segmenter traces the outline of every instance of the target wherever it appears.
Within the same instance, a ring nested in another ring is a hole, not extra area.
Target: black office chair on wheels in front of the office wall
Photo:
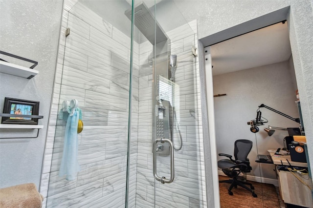
[[[253,197],[257,197],[257,195],[252,190],[254,189],[252,184],[247,183],[245,181],[241,181],[239,179],[239,174],[241,172],[247,173],[252,170],[249,159],[247,158],[252,148],[252,145],[253,143],[250,140],[243,140],[243,139],[237,140],[235,142],[235,149],[234,149],[235,160],[232,159],[231,155],[223,154],[223,153],[219,154],[220,156],[226,156],[229,158],[229,160],[223,159],[223,160],[218,161],[218,167],[220,167],[228,177],[232,178],[230,180],[219,181],[220,183],[231,184],[230,187],[228,188],[229,195],[233,195],[233,192],[231,191],[233,187],[237,188],[237,186],[240,186],[250,191]],[[246,187],[245,185],[249,185],[250,188]]]

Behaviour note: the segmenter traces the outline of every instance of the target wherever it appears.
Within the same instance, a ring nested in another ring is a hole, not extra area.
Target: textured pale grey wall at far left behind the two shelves
[[[39,187],[62,4],[62,0],[0,0],[0,49],[37,61],[35,69],[39,71],[31,80],[0,73],[0,110],[4,97],[20,98],[39,101],[39,114],[44,116],[39,120],[44,128],[37,139],[0,140],[0,187],[22,183]],[[35,133],[36,130],[18,133],[15,129],[1,129],[1,137],[28,137]]]

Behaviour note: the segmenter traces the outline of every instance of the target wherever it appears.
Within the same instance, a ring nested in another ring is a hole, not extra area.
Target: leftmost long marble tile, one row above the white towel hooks
[[[64,66],[62,84],[105,94],[110,93],[110,80],[67,66]]]

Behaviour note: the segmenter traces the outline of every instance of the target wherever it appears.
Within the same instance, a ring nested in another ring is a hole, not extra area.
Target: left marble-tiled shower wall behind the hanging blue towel
[[[131,24],[131,22],[130,22]],[[131,26],[131,25],[130,25]],[[65,39],[65,30],[70,35]],[[43,207],[125,207],[131,39],[77,0],[65,0],[53,103],[40,191]],[[139,45],[134,43],[129,205],[135,206],[139,108]],[[64,100],[77,99],[84,130],[81,170],[59,177],[66,122]]]

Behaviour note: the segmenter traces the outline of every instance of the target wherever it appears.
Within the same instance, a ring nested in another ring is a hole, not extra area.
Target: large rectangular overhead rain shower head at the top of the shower
[[[125,15],[132,21],[132,9],[126,10]],[[166,41],[168,39],[157,21],[155,36],[155,18],[144,2],[139,3],[134,8],[134,25],[152,44]]]

